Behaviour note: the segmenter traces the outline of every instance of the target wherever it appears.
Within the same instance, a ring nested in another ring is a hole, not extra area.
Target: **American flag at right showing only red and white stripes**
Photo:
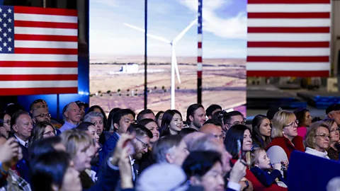
[[[248,0],[247,76],[329,76],[330,0]]]

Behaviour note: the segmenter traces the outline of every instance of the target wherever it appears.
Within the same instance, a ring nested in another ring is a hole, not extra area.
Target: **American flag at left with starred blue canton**
[[[77,11],[0,6],[0,96],[77,92]]]

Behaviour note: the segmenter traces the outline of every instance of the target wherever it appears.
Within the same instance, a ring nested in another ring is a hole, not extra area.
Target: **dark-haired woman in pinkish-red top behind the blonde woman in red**
[[[312,125],[312,117],[310,116],[310,110],[307,108],[297,108],[294,111],[297,123],[297,135],[305,140],[307,134],[307,127]]]

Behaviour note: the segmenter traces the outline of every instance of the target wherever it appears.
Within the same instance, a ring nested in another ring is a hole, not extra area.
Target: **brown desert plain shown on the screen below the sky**
[[[197,61],[196,57],[177,57],[177,61],[181,83],[176,79],[176,110],[184,118],[188,106],[197,102]],[[147,107],[155,113],[170,108],[170,62],[170,57],[147,58]],[[135,64],[133,71],[121,71],[128,64]],[[91,56],[91,105],[101,105],[107,113],[113,108],[143,110],[144,70],[144,56]],[[246,100],[246,60],[203,58],[202,88],[205,108],[217,103],[225,109],[240,110],[245,115],[245,108],[241,105]]]

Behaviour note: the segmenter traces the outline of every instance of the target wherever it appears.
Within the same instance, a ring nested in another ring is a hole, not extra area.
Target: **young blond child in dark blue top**
[[[251,151],[251,173],[266,187],[276,184],[280,187],[287,187],[281,170],[281,163],[276,163],[271,168],[271,159],[268,158],[266,151],[256,148]]]

